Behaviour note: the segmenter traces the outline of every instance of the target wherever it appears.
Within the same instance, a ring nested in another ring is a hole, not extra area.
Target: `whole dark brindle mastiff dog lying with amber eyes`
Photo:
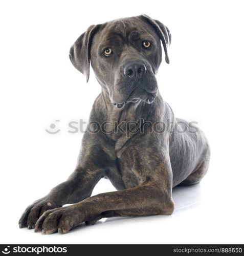
[[[161,43],[169,63],[170,41],[169,29],[147,15],[93,25],[78,37],[71,62],[86,81],[91,62],[102,90],[74,172],[27,207],[20,228],[66,233],[101,218],[170,215],[172,187],[202,180],[210,159],[207,139],[174,117],[158,89]],[[91,197],[103,177],[117,191]]]

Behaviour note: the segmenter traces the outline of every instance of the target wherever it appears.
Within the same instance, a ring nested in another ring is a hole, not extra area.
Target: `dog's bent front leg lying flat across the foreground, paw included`
[[[37,221],[36,231],[42,230],[44,234],[55,231],[66,233],[82,222],[93,224],[104,217],[170,215],[174,208],[171,169],[155,170],[154,174],[160,176],[147,176],[139,186],[99,194],[71,206],[48,210]]]

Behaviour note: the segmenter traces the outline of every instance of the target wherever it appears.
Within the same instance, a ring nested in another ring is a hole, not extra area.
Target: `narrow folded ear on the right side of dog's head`
[[[152,19],[146,14],[141,15],[141,18],[149,23],[159,35],[164,47],[165,61],[169,64],[169,57],[167,51],[167,47],[170,45],[171,42],[171,34],[169,32],[169,29],[163,23],[159,22],[159,20]]]

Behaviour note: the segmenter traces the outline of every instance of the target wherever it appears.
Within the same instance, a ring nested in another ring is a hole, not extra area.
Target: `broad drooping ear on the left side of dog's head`
[[[86,32],[80,35],[70,49],[70,60],[74,67],[86,76],[89,80],[91,45],[94,34],[98,31],[99,25],[90,26]]]

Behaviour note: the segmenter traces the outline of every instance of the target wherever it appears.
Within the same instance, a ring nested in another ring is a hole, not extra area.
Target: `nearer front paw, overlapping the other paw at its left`
[[[35,232],[52,234],[58,231],[61,234],[67,233],[83,221],[80,212],[75,208],[60,207],[48,210],[42,214],[35,225]]]

